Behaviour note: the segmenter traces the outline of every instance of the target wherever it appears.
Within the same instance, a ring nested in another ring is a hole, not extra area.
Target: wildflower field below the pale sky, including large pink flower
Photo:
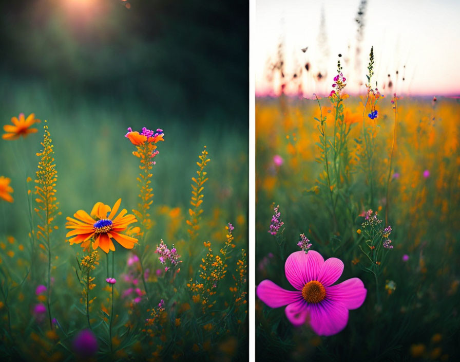
[[[256,99],[257,360],[458,358],[460,102],[371,63],[361,96],[339,64],[329,97]]]

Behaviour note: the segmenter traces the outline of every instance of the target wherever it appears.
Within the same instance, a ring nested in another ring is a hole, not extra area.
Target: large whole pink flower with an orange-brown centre
[[[308,319],[313,331],[331,336],[344,329],[348,310],[357,309],[366,299],[367,289],[358,278],[332,285],[343,271],[337,258],[324,261],[319,252],[296,251],[284,266],[286,279],[297,291],[286,291],[270,280],[258,286],[257,296],[271,308],[286,306],[287,319],[298,326]]]

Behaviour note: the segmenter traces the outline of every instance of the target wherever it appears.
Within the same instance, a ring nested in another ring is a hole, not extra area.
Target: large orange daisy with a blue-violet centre
[[[126,215],[126,209],[120,211],[117,217],[114,217],[121,204],[121,198],[113,205],[104,205],[99,202],[91,210],[91,216],[83,210],[78,210],[72,218],[67,218],[67,229],[69,231],[66,238],[69,238],[70,245],[82,243],[82,247],[88,249],[92,242],[92,248],[95,250],[100,247],[107,254],[109,250],[115,251],[112,239],[115,239],[121,246],[126,249],[132,249],[138,239],[121,234],[126,230],[129,224],[137,222],[136,216]]]

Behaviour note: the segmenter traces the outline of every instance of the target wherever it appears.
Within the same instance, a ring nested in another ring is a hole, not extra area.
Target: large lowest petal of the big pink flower
[[[310,325],[319,336],[332,336],[347,326],[348,309],[338,302],[324,299],[320,303],[308,304]]]

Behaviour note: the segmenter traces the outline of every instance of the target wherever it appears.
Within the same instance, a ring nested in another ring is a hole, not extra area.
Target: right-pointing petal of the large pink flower
[[[351,278],[326,288],[328,299],[340,301],[348,309],[359,308],[366,299],[366,294],[367,289],[359,278]]]

